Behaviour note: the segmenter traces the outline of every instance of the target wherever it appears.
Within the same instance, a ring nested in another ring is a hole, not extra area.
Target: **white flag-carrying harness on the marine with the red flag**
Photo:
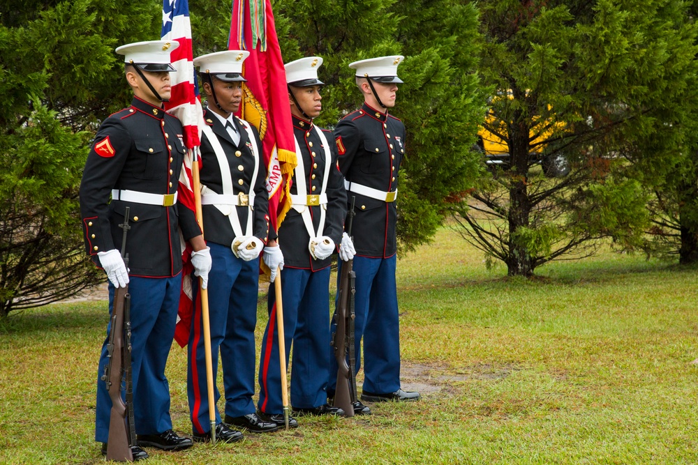
[[[301,154],[301,148],[298,144],[298,139],[293,137],[296,143],[296,153],[298,156],[298,165],[296,165],[295,173],[293,179],[296,185],[296,195],[291,195],[291,208],[301,214],[303,222],[305,224],[306,230],[309,236],[320,237],[325,231],[325,215],[327,214],[327,179],[329,178],[329,169],[332,168],[332,153],[329,152],[329,144],[327,144],[327,137],[322,133],[322,130],[318,126],[313,125],[315,132],[318,133],[320,137],[320,142],[322,142],[322,147],[325,149],[325,174],[322,176],[322,187],[320,188],[320,194],[308,194],[308,186],[306,185],[306,171],[303,165],[303,157]],[[309,205],[320,205],[320,224],[318,225],[318,231],[315,231],[313,227],[313,219],[310,215],[310,208],[306,208]]]

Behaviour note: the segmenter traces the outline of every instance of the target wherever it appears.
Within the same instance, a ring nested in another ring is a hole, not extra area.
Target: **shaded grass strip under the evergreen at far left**
[[[91,330],[103,328],[107,319],[107,306],[103,302],[52,304],[11,312],[8,317],[0,319],[0,335]]]

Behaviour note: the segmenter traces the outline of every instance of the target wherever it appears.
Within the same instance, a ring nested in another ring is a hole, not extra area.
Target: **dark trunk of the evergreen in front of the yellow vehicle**
[[[524,121],[522,117],[514,121]],[[509,128],[509,157],[511,162],[511,184],[509,188],[509,256],[507,275],[533,275],[533,257],[526,244],[521,242],[517,231],[528,227],[530,199],[528,197],[528,125],[512,124]]]

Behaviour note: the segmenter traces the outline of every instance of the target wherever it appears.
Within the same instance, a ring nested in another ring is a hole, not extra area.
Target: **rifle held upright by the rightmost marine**
[[[352,196],[351,208],[349,211],[349,224],[347,234],[351,235],[354,215],[354,204],[356,197]],[[354,330],[355,330],[355,280],[356,273],[353,270],[353,260],[342,264],[342,271],[339,277],[339,298],[334,312],[333,324],[336,326],[332,346],[334,346],[334,358],[337,360],[337,383],[334,394],[334,406],[338,406],[348,417],[354,416],[354,406],[357,401],[356,391],[356,356],[354,350]],[[347,354],[349,363],[347,363]]]

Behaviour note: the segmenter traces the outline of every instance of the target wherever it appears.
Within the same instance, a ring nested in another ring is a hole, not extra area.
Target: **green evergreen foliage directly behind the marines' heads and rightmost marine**
[[[387,54],[406,57],[398,68],[405,84],[391,111],[407,129],[397,230],[401,250],[429,241],[449,202],[471,188],[482,169],[470,150],[484,112],[475,74],[477,10],[453,0],[275,0],[272,5],[284,62],[311,55],[324,59],[319,75],[326,85],[316,119],[322,127],[334,128],[363,103],[349,63]],[[204,17],[229,20],[230,1],[190,2],[190,7],[194,53],[225,49],[228,23]]]

